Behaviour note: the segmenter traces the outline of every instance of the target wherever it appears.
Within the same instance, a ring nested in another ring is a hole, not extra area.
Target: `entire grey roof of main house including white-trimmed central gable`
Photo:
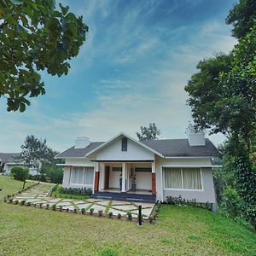
[[[190,146],[188,139],[164,139],[164,140],[148,140],[139,142],[132,137],[129,137],[124,132],[108,140],[108,142],[90,143],[86,148],[68,148],[61,154],[57,154],[55,158],[69,158],[69,157],[86,157],[95,153],[102,148],[108,147],[108,144],[113,143],[119,137],[127,137],[131,141],[147,148],[154,154],[160,157],[215,157],[218,156],[218,149],[212,144],[209,139],[206,139],[205,146]]]

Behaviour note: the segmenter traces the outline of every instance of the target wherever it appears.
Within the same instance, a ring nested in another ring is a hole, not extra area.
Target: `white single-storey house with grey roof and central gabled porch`
[[[78,137],[64,159],[65,188],[92,189],[96,198],[165,201],[179,196],[215,203],[212,157],[218,150],[202,132],[188,139],[139,142],[124,132],[107,142]]]

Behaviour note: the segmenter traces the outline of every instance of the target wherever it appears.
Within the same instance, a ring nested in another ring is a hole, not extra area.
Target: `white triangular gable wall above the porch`
[[[127,139],[127,151],[122,151],[122,139],[96,154],[96,160],[154,160],[154,153]]]

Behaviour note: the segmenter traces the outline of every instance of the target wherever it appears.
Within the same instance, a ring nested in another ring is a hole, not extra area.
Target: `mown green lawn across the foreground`
[[[4,193],[20,189],[7,179],[0,177]],[[0,255],[256,254],[256,233],[218,213],[193,207],[163,205],[158,224],[142,227],[118,219],[9,205],[3,200],[0,216]]]

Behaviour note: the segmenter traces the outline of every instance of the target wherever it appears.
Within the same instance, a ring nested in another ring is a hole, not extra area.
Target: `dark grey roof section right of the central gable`
[[[206,139],[205,146],[190,146],[188,139],[150,140],[142,143],[166,157],[218,156],[218,149],[209,139]]]

